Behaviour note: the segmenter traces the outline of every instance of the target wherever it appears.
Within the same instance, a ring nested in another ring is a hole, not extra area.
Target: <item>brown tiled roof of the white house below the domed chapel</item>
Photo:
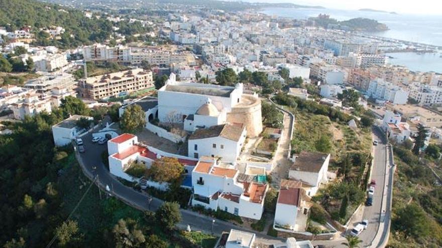
[[[212,137],[223,137],[233,141],[239,141],[243,133],[244,125],[223,124],[212,126],[205,129],[198,129],[190,135],[189,140],[192,139],[206,139]]]

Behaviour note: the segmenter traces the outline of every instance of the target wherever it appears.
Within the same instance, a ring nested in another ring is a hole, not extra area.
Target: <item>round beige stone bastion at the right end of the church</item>
[[[241,103],[227,114],[227,121],[246,125],[247,137],[254,138],[262,132],[261,100],[252,95],[243,95]]]

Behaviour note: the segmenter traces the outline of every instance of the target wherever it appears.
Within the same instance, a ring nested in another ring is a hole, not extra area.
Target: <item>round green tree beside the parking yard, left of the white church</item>
[[[146,113],[140,105],[132,104],[126,107],[120,120],[120,127],[125,133],[141,131],[146,124]]]

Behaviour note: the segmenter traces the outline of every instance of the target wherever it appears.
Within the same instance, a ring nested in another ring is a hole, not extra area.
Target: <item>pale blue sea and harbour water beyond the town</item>
[[[389,30],[370,33],[372,35],[392,38],[403,41],[418,42],[428,45],[442,46],[442,15],[411,15],[390,14],[383,12],[352,11],[336,9],[290,9],[290,8],[265,8],[260,13],[289,17],[294,19],[308,19],[319,14],[330,15],[330,18],[345,21],[352,18],[369,18],[388,26]],[[389,53],[389,63],[406,66],[412,71],[433,71],[442,73],[442,52],[439,53]]]

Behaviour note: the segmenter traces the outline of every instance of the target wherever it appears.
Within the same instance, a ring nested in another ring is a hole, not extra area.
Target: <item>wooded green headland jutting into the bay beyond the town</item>
[[[324,29],[339,29],[345,31],[380,32],[388,30],[387,25],[368,18],[353,18],[347,21],[338,21],[328,15],[320,14],[308,20],[314,21],[316,25]]]

